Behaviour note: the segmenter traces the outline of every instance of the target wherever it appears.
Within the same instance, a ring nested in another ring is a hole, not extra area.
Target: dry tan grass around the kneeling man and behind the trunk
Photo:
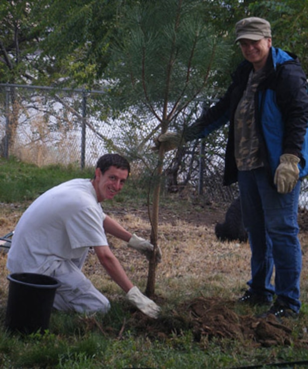
[[[189,206],[189,205],[188,205]],[[0,216],[0,234],[11,231],[17,223],[24,207],[21,205],[2,204]],[[206,210],[205,210],[206,211]],[[125,228],[138,235],[149,238],[150,224],[146,211],[127,209],[113,210],[110,214]],[[250,278],[250,247],[248,243],[220,242],[214,233],[216,221],[185,221],[178,217],[161,215],[159,224],[159,245],[163,252],[163,262],[158,265],[156,274],[156,294],[164,298],[180,296],[220,296],[234,299],[245,288]],[[308,234],[300,234],[303,255],[302,300],[307,303],[307,249]],[[110,246],[118,257],[129,278],[144,289],[147,280],[148,262],[137,251],[128,248],[125,243],[109,237]],[[6,299],[7,270],[6,255],[0,255],[0,300]],[[96,256],[89,253],[85,274],[94,285],[111,300],[123,296],[120,288],[110,280],[99,264]]]

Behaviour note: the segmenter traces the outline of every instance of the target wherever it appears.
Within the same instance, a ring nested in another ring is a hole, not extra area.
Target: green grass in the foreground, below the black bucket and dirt
[[[167,339],[148,339],[127,323],[127,312],[116,302],[106,315],[91,318],[54,312],[44,335],[22,336],[0,330],[1,368],[217,368],[218,348],[195,345],[190,331]],[[90,322],[96,321],[107,333]],[[2,326],[4,322],[2,319]],[[89,328],[91,326],[91,328]],[[51,333],[52,332],[52,333]],[[214,346],[213,346],[214,347]],[[231,358],[232,359],[232,358]],[[223,362],[231,360],[225,356]],[[232,361],[232,360],[231,360]]]

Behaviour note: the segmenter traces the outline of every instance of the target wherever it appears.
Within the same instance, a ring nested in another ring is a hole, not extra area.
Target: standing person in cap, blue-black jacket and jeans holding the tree
[[[236,23],[244,58],[219,102],[184,130],[185,141],[203,138],[230,122],[224,184],[238,181],[252,251],[243,303],[272,304],[263,316],[296,316],[301,307],[301,245],[297,222],[299,179],[308,174],[308,94],[296,55],[272,46],[270,23],[249,17]],[[166,150],[180,142],[159,136]],[[271,284],[275,266],[275,287]]]

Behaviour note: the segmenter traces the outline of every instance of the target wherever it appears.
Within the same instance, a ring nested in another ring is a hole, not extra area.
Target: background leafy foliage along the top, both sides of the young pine
[[[170,14],[164,13],[168,9],[162,7],[165,2],[157,0],[155,5],[159,20],[168,22]],[[115,39],[119,42],[121,36],[127,36],[131,24],[127,7],[139,4],[145,7],[151,3],[149,0],[1,1],[0,81],[61,82],[79,87],[99,84],[110,60],[110,47]],[[237,20],[251,15],[267,18],[272,24],[274,45],[295,52],[308,73],[308,0],[185,0],[183,3],[187,9],[198,7],[199,21],[210,24],[211,32],[230,45]],[[229,55],[225,70],[217,70],[217,87],[225,88],[240,59],[239,52]]]

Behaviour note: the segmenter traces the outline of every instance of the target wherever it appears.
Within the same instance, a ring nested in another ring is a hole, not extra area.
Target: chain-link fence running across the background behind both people
[[[95,166],[103,154],[118,152],[130,160],[137,176],[150,175],[157,164],[150,149],[157,122],[140,111],[110,118],[105,101],[104,91],[0,84],[0,156],[38,166],[84,168]],[[224,128],[203,142],[167,153],[165,190],[193,188],[206,200],[230,203],[238,196],[238,187],[222,185],[226,141]],[[308,207],[307,180],[300,206]]]

